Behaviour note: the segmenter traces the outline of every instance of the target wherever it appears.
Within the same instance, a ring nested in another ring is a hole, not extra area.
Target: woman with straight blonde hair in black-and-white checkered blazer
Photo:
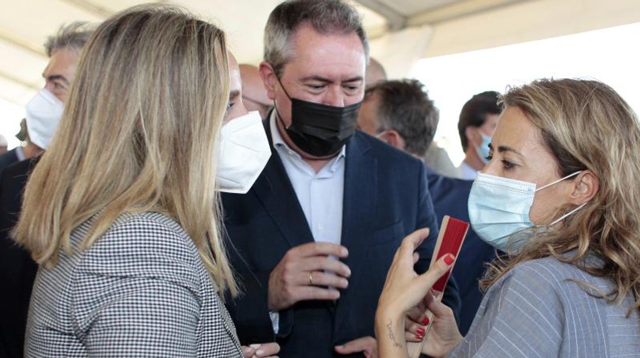
[[[14,231],[41,264],[26,356],[243,356],[215,204],[216,138],[240,98],[228,65],[220,29],[166,6],[90,38]],[[230,123],[262,131],[259,117]]]

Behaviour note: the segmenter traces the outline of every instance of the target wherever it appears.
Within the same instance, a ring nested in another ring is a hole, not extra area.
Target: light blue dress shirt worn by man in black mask
[[[316,173],[316,170],[284,142],[276,126],[275,111],[269,118],[273,146],[296,192],[316,242],[340,244],[342,236],[342,199],[344,197],[344,156],[346,146]],[[273,332],[278,334],[280,315],[270,312]]]

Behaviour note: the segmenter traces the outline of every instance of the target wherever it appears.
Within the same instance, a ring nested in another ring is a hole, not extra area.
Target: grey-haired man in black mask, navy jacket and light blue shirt
[[[228,251],[244,287],[230,313],[241,343],[275,336],[280,357],[369,357],[401,240],[429,227],[416,269],[431,259],[438,226],[426,169],[355,131],[368,46],[351,6],[282,3],[264,43],[273,154],[248,193],[222,195]],[[445,302],[457,310],[453,284]]]

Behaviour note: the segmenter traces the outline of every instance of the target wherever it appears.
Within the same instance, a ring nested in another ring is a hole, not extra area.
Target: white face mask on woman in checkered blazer
[[[218,190],[244,194],[267,165],[271,147],[258,111],[230,120],[218,138]]]

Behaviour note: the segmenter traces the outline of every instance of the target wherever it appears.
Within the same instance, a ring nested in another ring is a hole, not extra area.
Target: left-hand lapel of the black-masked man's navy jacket
[[[271,158],[269,158],[252,190],[264,205],[273,222],[278,225],[278,229],[282,232],[282,236],[287,240],[289,246],[296,247],[303,243],[313,242],[314,238],[305,213],[298,202],[298,197],[296,197],[289,176],[285,172],[280,156],[273,147],[269,120],[265,120],[263,123],[269,145],[271,145]]]

